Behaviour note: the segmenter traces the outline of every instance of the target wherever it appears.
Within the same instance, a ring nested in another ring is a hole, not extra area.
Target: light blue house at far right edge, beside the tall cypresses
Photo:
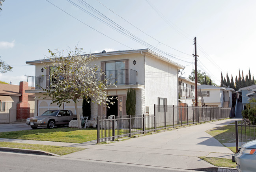
[[[256,85],[243,87],[237,92],[242,95],[242,110],[244,110],[246,109],[246,104],[249,103],[249,100],[256,98]],[[239,96],[237,96],[237,98],[239,98]]]

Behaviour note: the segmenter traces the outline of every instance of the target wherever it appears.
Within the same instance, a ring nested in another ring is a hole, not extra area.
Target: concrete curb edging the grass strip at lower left
[[[31,149],[0,147],[0,151],[1,152],[15,152],[15,153],[22,153],[22,154],[60,156],[60,155],[57,155],[57,154],[52,154],[50,152],[45,152],[45,151],[41,151],[41,150],[31,150]]]

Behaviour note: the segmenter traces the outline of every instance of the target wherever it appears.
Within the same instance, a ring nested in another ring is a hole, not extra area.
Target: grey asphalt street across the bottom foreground
[[[133,164],[0,152],[1,172],[192,172]],[[196,172],[193,170],[193,172]]]

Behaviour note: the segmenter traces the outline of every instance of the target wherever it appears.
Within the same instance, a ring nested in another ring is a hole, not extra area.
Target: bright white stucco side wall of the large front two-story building
[[[178,68],[174,65],[146,56],[145,98],[149,114],[154,113],[157,98],[167,98],[167,105],[178,104]]]

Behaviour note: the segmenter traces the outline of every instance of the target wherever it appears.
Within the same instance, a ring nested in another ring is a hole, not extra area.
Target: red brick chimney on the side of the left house
[[[25,90],[28,90],[28,82],[21,81],[19,88],[21,96],[20,101],[17,103],[17,120],[29,118],[30,104],[28,103],[28,93]]]

